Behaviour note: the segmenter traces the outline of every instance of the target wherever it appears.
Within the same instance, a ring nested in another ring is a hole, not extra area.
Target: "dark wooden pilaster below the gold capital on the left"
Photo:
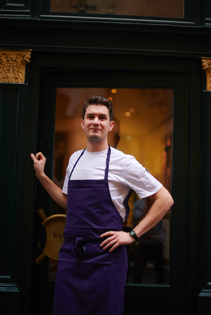
[[[25,84],[0,84],[0,301],[4,314],[19,314]]]

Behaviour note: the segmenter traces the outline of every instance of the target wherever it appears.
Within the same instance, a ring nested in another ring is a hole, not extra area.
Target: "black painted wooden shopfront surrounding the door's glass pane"
[[[51,199],[35,179],[30,153],[46,150],[50,176],[55,88],[77,84],[174,88],[170,286],[127,285],[124,315],[209,313],[211,92],[201,57],[211,57],[210,1],[186,0],[185,19],[171,21],[49,16],[47,5],[0,1],[0,49],[32,49],[25,84],[0,84],[2,314],[37,315],[42,307],[50,314],[54,282],[47,260],[37,266],[35,259],[37,237],[45,238],[36,211],[48,215]]]

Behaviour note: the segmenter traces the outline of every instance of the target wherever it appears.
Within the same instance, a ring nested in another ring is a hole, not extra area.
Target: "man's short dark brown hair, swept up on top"
[[[108,109],[108,113],[109,113],[109,118],[110,121],[113,118],[113,103],[106,99],[105,96],[100,96],[100,95],[93,95],[88,97],[85,102],[84,102],[84,106],[82,107],[82,118],[84,119],[85,116],[85,112],[86,112],[86,108],[88,107],[88,105],[105,105]]]

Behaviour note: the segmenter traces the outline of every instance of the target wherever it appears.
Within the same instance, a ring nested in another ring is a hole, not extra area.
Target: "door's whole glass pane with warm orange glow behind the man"
[[[84,100],[99,94],[113,98],[114,128],[108,134],[112,147],[131,154],[171,192],[172,89],[58,88],[56,100],[54,182],[63,186],[69,157],[86,147],[81,128]],[[126,116],[125,113],[130,113]],[[133,192],[124,231],[131,231],[147,214],[152,201]],[[52,214],[65,210],[53,203]],[[170,211],[139,242],[127,246],[128,283],[169,284]],[[57,262],[50,261],[49,279],[55,279]]]

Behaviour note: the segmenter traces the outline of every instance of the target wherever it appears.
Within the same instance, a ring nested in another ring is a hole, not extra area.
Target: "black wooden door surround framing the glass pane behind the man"
[[[150,306],[150,311],[154,313],[159,307],[162,313],[170,315],[178,312],[183,314],[181,310],[185,310],[189,180],[189,84],[189,74],[138,71],[99,72],[93,70],[42,72],[37,151],[42,151],[47,158],[45,172],[50,178],[53,178],[56,92],[58,87],[173,89],[172,195],[175,205],[171,219],[169,284],[134,285],[128,283],[125,292],[125,314],[136,311],[140,305],[142,311],[145,307],[147,309]],[[182,181],[181,174],[183,174]],[[47,216],[52,213],[52,200],[39,181],[36,183],[35,207],[36,210],[44,209]],[[41,254],[45,242],[45,231],[41,221],[37,215],[35,217],[35,259]],[[41,243],[40,248],[39,242]],[[51,313],[54,280],[50,280],[48,274],[49,260],[46,258],[42,265],[35,265],[33,269],[35,314],[38,310],[39,314]],[[180,289],[178,290],[178,288]],[[179,304],[178,300],[180,301]],[[42,305],[42,309],[40,305]]]

